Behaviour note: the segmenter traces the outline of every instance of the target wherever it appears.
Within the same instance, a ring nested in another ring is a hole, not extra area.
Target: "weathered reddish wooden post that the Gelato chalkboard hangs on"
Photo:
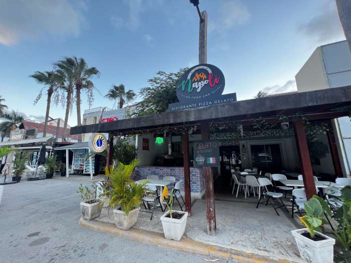
[[[210,139],[210,124],[207,121],[201,122],[201,138],[203,140]],[[216,211],[215,211],[215,189],[213,185],[213,169],[204,167],[205,181],[205,198],[206,198],[206,217],[207,217],[207,233],[209,235],[217,234]]]

